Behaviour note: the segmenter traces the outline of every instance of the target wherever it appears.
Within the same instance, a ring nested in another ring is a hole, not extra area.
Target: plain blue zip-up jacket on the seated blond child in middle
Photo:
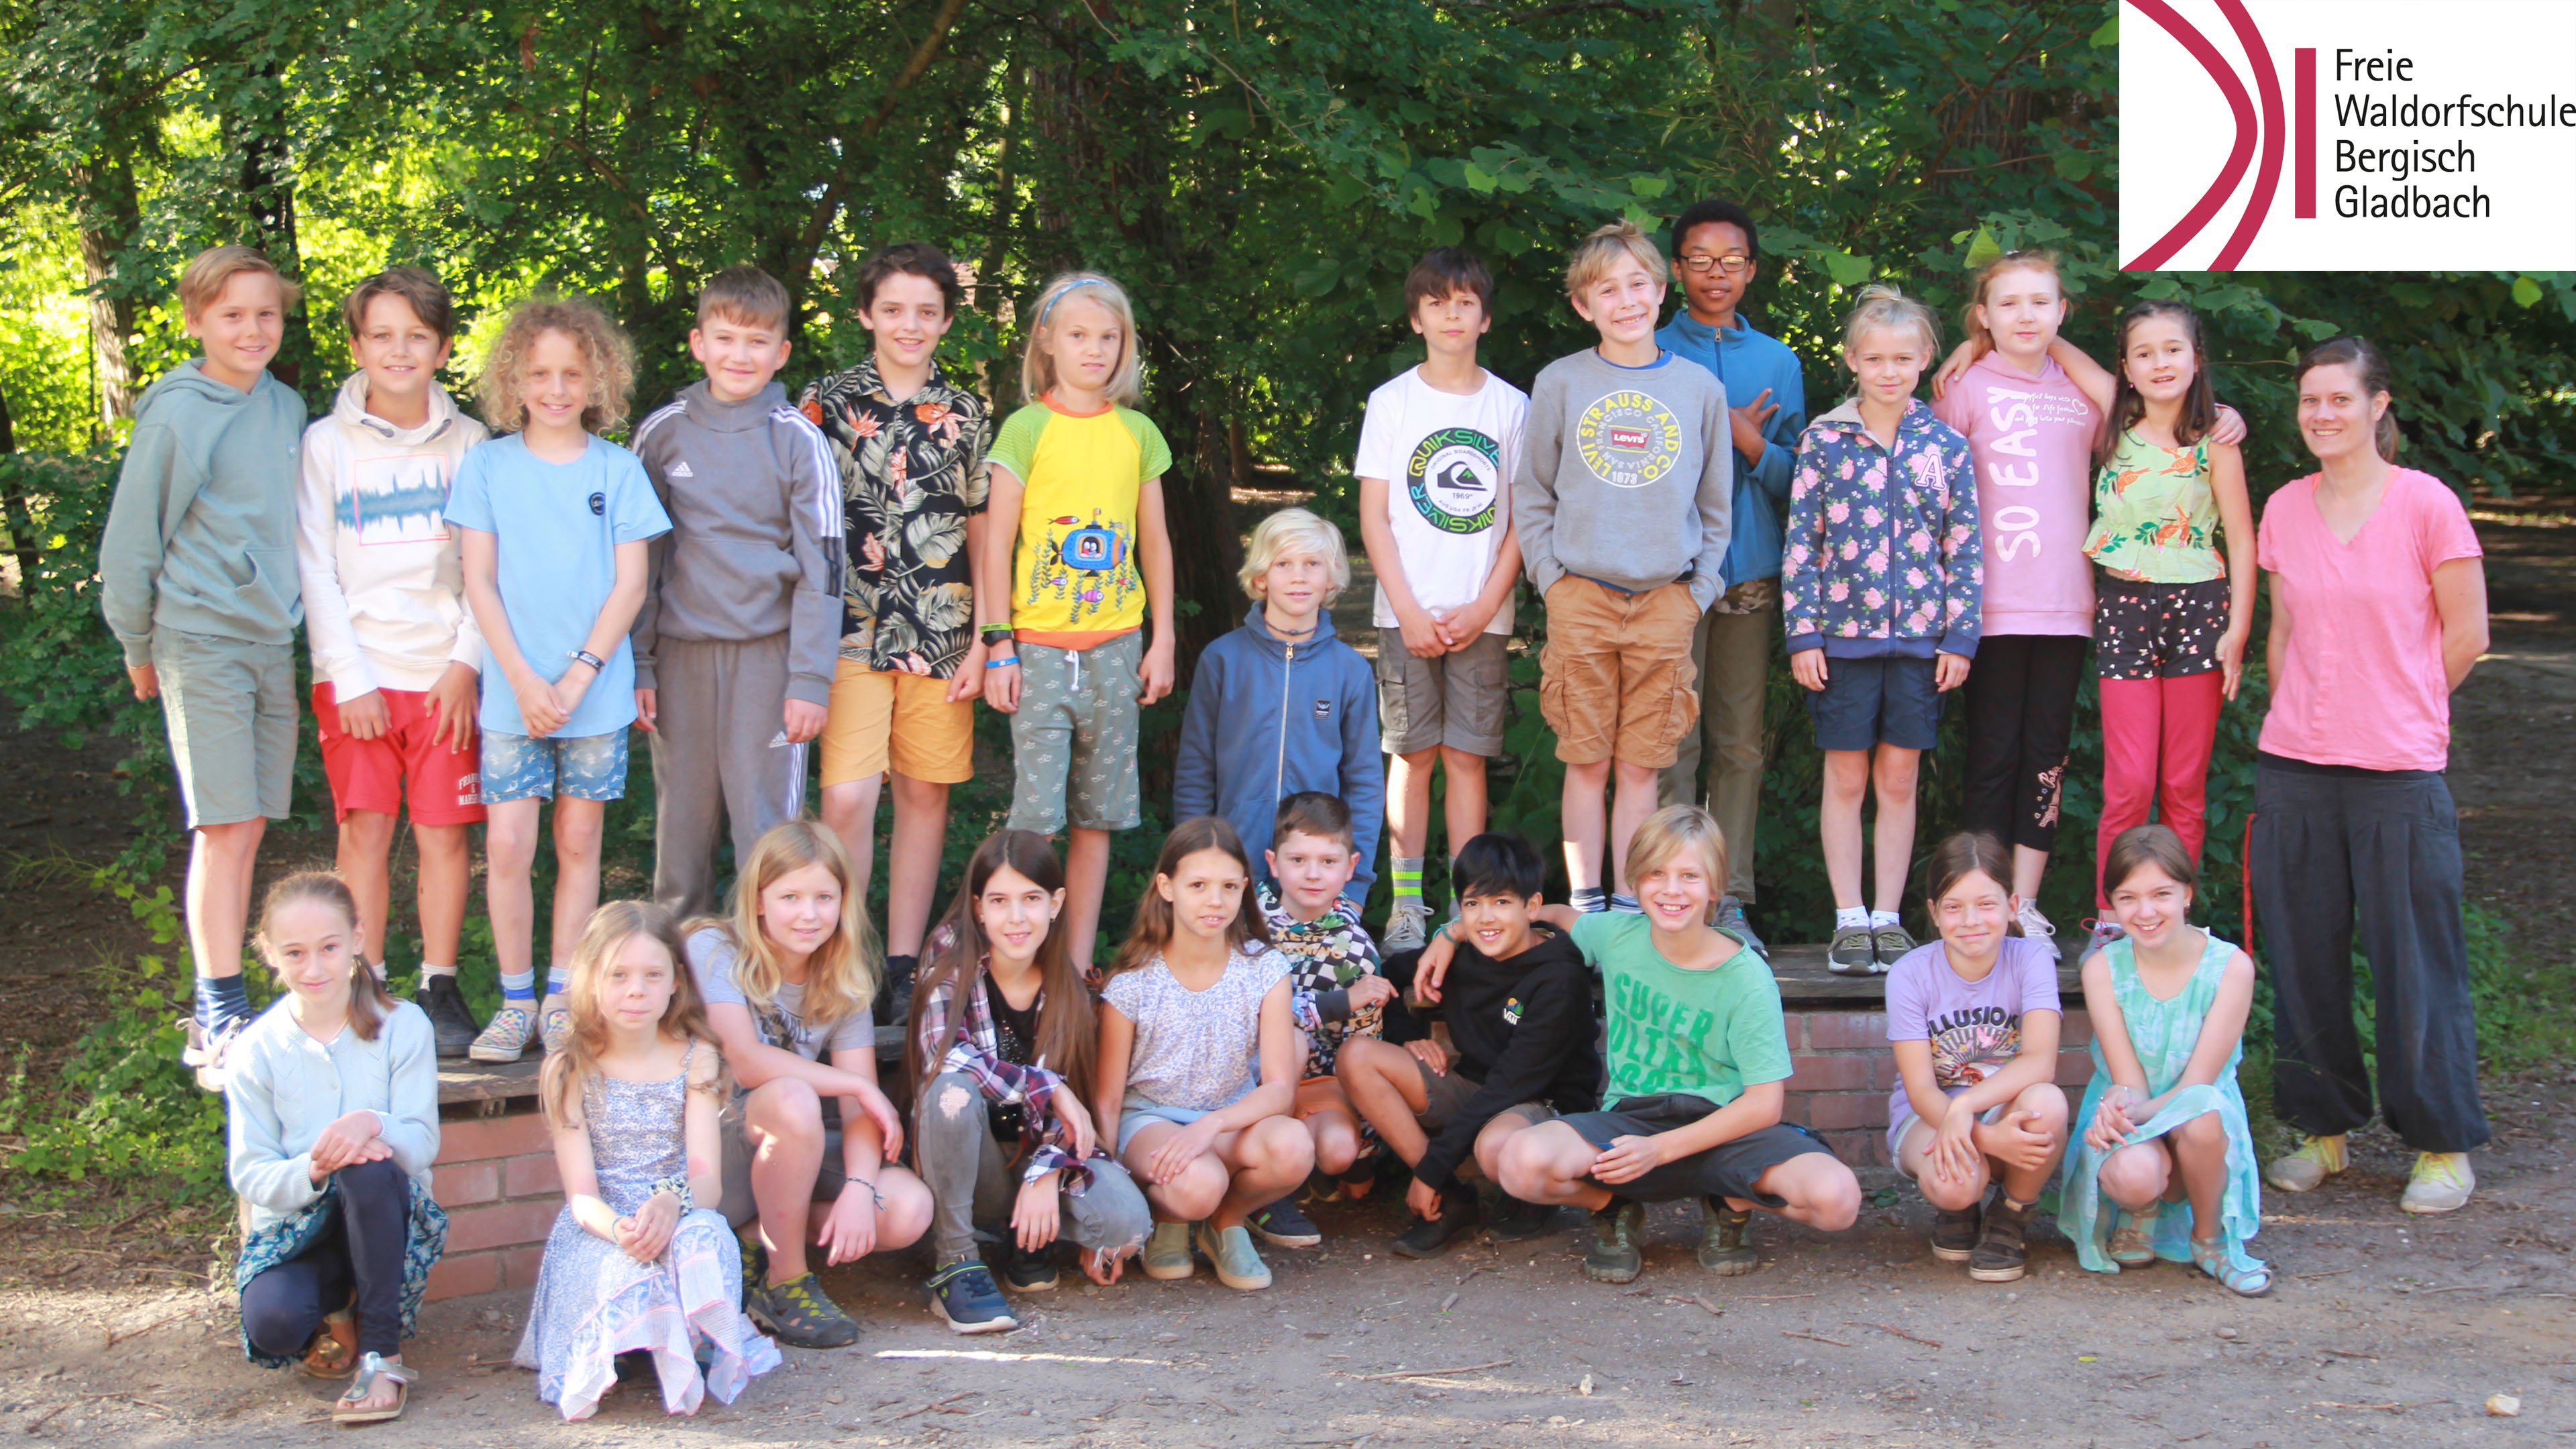
[[[1386,820],[1378,673],[1334,637],[1332,614],[1319,611],[1314,637],[1288,645],[1255,603],[1242,629],[1198,655],[1172,763],[1172,817],[1224,815],[1252,851],[1252,874],[1265,877],[1280,799],[1301,789],[1340,794],[1350,807],[1360,871],[1342,895],[1365,902]]]

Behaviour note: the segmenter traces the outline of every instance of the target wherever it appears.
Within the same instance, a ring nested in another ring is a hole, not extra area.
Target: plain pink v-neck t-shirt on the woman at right
[[[2460,498],[2432,474],[2388,469],[2352,541],[2316,511],[2316,474],[2285,482],[2264,503],[2254,549],[2290,606],[2262,750],[2365,771],[2445,768],[2450,678],[2432,570],[2481,554]]]

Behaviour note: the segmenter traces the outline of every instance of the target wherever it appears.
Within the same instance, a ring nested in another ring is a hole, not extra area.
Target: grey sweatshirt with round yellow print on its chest
[[[1512,526],[1540,596],[1569,572],[1625,590],[1690,575],[1705,611],[1723,588],[1731,511],[1713,371],[1680,353],[1615,366],[1595,348],[1540,369],[1512,474]]]

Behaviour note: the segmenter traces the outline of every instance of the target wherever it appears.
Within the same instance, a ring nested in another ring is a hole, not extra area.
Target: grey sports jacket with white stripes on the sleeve
[[[775,382],[719,402],[680,389],[634,433],[670,513],[652,541],[636,614],[636,688],[654,686],[657,639],[788,637],[788,699],[829,704],[840,665],[840,467],[822,428]]]

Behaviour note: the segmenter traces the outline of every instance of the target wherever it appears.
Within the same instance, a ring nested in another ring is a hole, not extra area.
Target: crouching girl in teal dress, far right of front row
[[[2262,1181],[2236,1091],[2254,962],[2184,923],[2197,869],[2172,828],[2123,830],[2102,877],[2128,936],[2084,959],[2094,1075],[2058,1227],[2097,1274],[2166,1258],[2267,1294],[2272,1271],[2244,1250],[2262,1230]]]

